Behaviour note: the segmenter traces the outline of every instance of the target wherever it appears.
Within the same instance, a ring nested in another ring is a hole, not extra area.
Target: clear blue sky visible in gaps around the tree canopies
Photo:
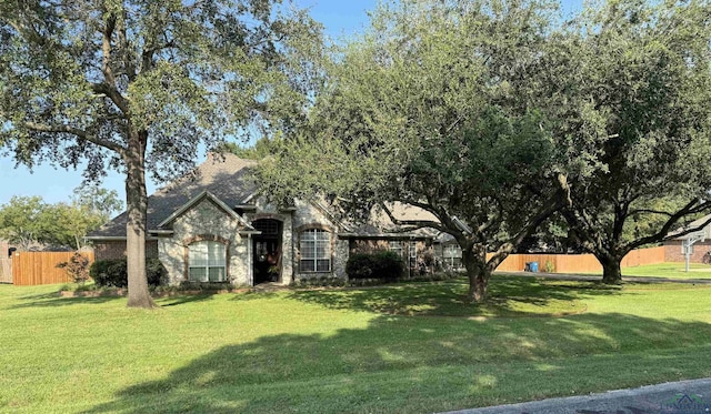
[[[297,0],[296,3],[310,10],[311,17],[324,26],[328,37],[339,39],[363,31],[368,24],[368,11],[374,9],[377,0]],[[563,13],[568,14],[581,6],[582,0],[563,0]],[[197,155],[198,162],[204,160],[203,153]],[[124,200],[123,180],[120,173],[111,171],[101,185],[116,190]],[[81,170],[67,171],[40,164],[30,171],[23,165],[16,168],[11,156],[0,155],[0,204],[13,195],[40,195],[48,203],[68,201],[73,189],[81,183]],[[162,185],[151,182],[148,176],[147,184],[149,194]]]

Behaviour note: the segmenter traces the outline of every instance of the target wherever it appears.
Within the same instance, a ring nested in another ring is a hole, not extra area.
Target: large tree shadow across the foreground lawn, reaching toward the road
[[[120,390],[87,413],[431,412],[551,396],[568,386],[587,393],[679,373],[711,375],[678,352],[680,342],[711,335],[705,323],[623,314],[512,321],[383,315],[328,336],[262,336]],[[620,380],[620,370],[632,378]],[[513,397],[511,387],[520,390]]]

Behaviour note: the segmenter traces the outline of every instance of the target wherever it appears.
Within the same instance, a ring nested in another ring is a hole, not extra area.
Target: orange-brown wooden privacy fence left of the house
[[[16,252],[12,255],[12,283],[18,286],[36,284],[67,283],[71,279],[57,265],[69,262],[74,252]],[[93,252],[81,252],[89,264],[93,263]]]

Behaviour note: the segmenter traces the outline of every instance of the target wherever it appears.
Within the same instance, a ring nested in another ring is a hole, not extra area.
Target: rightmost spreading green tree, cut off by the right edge
[[[581,122],[558,140],[569,147],[567,135],[598,125],[590,153],[599,168],[569,171],[563,214],[571,235],[604,262],[605,280],[619,277],[632,249],[711,210],[710,23],[704,2],[610,1],[557,40],[569,68],[555,78],[559,93],[590,104],[571,107],[567,117]]]

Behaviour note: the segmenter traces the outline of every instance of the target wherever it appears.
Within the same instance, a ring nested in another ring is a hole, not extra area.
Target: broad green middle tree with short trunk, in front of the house
[[[393,201],[423,209],[437,220],[391,218],[451,234],[470,297],[483,300],[491,271],[561,199],[548,120],[511,97],[534,75],[550,12],[539,1],[381,7],[334,54],[311,128],[262,164],[266,193],[332,194],[351,215]]]

